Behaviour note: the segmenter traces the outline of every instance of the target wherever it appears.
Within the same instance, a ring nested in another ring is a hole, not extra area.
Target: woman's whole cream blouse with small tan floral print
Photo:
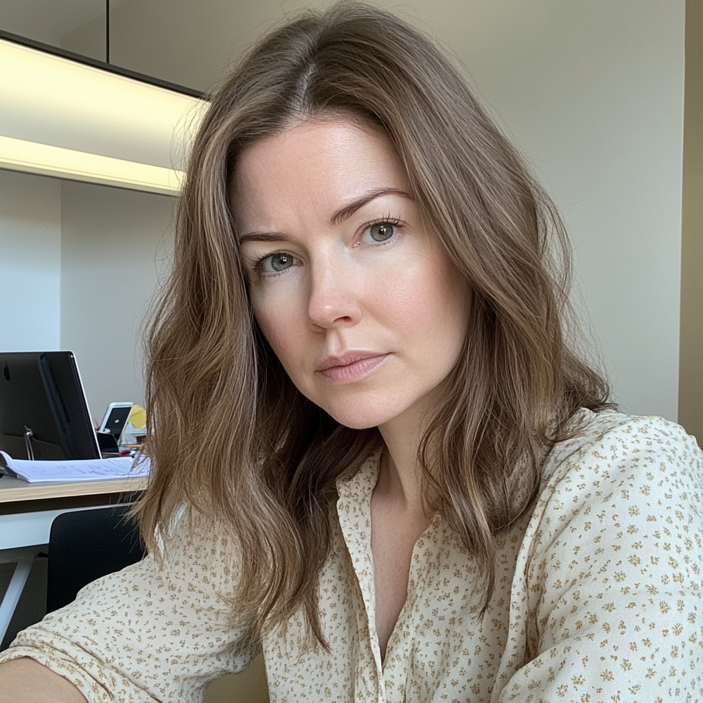
[[[262,641],[271,700],[635,703],[703,700],[702,455],[659,418],[581,411],[555,446],[534,512],[501,537],[481,619],[474,562],[438,515],[413,551],[408,598],[381,661],[370,495],[378,457],[340,482],[320,580],[330,651],[302,619]],[[165,565],[147,557],[84,588],[0,660],[33,657],[90,702],[200,701],[245,668],[221,593],[235,550],[183,519]]]

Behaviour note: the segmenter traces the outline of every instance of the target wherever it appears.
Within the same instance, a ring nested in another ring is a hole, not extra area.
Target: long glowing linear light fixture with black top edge
[[[197,91],[0,33],[2,169],[174,195],[206,106]]]

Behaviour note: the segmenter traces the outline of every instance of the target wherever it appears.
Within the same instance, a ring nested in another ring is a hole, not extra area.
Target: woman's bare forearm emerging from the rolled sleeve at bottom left
[[[63,676],[34,659],[25,658],[0,664],[0,703],[87,702],[75,685]]]

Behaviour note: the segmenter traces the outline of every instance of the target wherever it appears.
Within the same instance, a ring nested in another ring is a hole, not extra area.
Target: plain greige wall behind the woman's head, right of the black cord
[[[377,2],[467,67],[562,209],[624,408],[676,418],[684,0]],[[205,89],[286,13],[328,4],[126,0],[112,58]]]

